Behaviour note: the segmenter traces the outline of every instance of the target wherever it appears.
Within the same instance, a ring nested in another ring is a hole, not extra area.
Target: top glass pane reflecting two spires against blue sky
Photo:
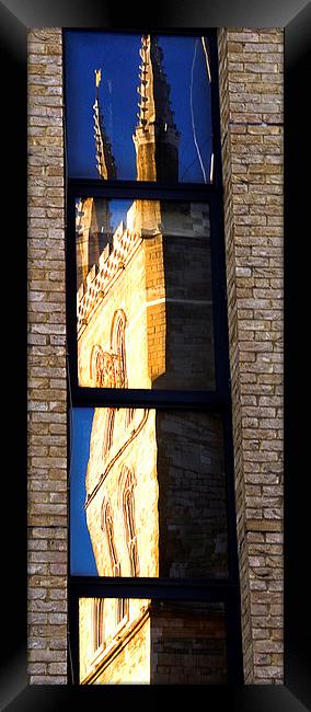
[[[66,32],[71,177],[212,181],[206,37]]]

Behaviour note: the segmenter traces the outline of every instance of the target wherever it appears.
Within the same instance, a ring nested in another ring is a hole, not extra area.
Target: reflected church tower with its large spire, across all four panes
[[[166,171],[172,179],[178,133],[162,53],[143,36],[140,54],[137,175],[164,180]],[[95,209],[93,202],[90,216]],[[88,236],[93,239],[91,225]],[[81,386],[214,387],[206,205],[134,200],[126,222],[89,267],[79,275]],[[220,420],[195,412],[95,409],[85,512],[101,576],[224,575]],[[223,611],[177,601],[82,599],[80,664],[80,679],[88,684],[223,682]]]

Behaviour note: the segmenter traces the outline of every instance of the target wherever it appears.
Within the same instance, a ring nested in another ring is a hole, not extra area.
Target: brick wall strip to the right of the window
[[[245,681],[283,681],[283,32],[220,30]]]

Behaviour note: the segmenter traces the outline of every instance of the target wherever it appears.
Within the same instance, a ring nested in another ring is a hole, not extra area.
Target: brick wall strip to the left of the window
[[[28,34],[28,675],[67,682],[61,30]]]

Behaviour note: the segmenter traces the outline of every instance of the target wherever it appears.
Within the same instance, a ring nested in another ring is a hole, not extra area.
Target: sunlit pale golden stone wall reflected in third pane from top
[[[101,576],[113,576],[108,542],[101,528],[103,502],[108,499],[114,518],[114,542],[123,576],[130,576],[129,555],[126,546],[125,515],[119,481],[123,467],[133,469],[135,478],[135,527],[140,576],[159,575],[159,484],[157,473],[156,411],[145,413],[138,409],[127,429],[126,409],[117,409],[114,441],[103,462],[103,433],[105,409],[96,409],[92,430],[92,449],[88,471],[88,492],[95,491],[87,504],[87,520],[91,535],[97,571]],[[101,467],[102,466],[102,467]],[[101,474],[104,479],[100,482]]]

